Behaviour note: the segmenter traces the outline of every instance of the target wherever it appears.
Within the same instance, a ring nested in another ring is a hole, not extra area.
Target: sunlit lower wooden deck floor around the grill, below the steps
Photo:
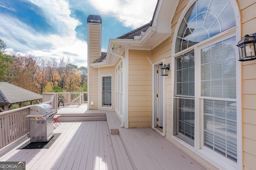
[[[106,131],[106,126],[106,121],[62,122],[59,127],[54,129],[54,133],[62,134],[50,149],[18,150],[18,147],[29,140],[27,139],[9,152],[0,155],[0,161],[25,161],[27,170],[84,170],[86,167],[87,169],[95,167],[96,170],[112,169],[112,167],[117,166],[115,165],[116,162],[113,161],[115,160],[113,148],[109,146],[108,137],[110,134],[103,133]],[[96,137],[96,134],[98,137]],[[95,141],[96,139],[98,142]],[[99,142],[99,139],[103,141]],[[96,148],[100,148],[101,151],[99,152],[99,149]],[[112,152],[110,152],[111,149]],[[94,153],[94,150],[97,151]],[[108,161],[102,159],[105,150],[108,150],[107,154],[110,157]],[[90,163],[86,162],[87,158],[90,159]]]

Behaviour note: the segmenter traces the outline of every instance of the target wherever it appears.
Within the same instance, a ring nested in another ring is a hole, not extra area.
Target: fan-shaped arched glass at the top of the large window
[[[207,2],[208,5],[204,7],[203,5]],[[220,4],[218,10],[214,9],[216,4]],[[229,22],[226,22],[227,20]],[[197,0],[182,19],[177,33],[175,53],[192,47],[235,25],[236,18],[229,0]]]

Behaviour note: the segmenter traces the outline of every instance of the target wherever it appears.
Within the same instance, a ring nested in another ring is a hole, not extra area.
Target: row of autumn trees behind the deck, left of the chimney
[[[86,90],[87,68],[71,64],[69,58],[37,58],[10,52],[0,39],[0,80],[32,92],[57,92]],[[82,88],[81,88],[82,86]],[[66,89],[65,89],[66,88]]]

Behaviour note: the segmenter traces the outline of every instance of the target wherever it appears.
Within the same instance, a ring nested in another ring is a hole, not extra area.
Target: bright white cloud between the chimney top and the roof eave
[[[126,27],[138,28],[152,20],[157,0],[90,0],[100,12],[113,15]]]

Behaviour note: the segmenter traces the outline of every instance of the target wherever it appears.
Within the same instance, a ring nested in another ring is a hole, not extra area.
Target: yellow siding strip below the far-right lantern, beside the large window
[[[242,115],[244,168],[255,168],[256,153],[256,64],[255,61],[242,63]]]

